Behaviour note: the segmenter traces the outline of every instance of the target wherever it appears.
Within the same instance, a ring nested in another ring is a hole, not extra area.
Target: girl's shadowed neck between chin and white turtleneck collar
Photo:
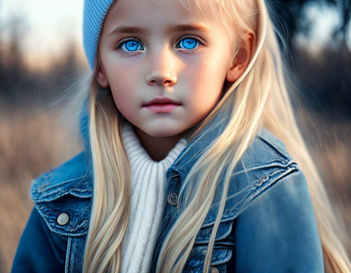
[[[188,130],[186,130],[177,135],[159,137],[148,135],[134,125],[133,128],[139,138],[141,146],[143,146],[150,157],[157,162],[166,158],[171,149],[188,133]]]

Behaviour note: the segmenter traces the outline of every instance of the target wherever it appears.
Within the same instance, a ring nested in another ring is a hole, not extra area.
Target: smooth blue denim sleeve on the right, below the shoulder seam
[[[259,191],[238,216],[237,269],[245,272],[324,272],[305,175],[300,169]]]

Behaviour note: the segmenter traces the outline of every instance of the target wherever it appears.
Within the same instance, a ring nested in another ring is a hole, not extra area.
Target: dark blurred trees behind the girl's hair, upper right
[[[333,120],[351,116],[351,52],[347,46],[351,18],[350,0],[268,0],[278,15],[272,18],[283,35],[291,56],[285,52],[288,65],[302,82],[303,101],[307,108],[323,112]],[[318,54],[294,43],[296,34],[309,36],[311,22],[303,12],[308,5],[327,5],[339,12],[340,24],[333,30]],[[307,100],[306,100],[307,98]]]

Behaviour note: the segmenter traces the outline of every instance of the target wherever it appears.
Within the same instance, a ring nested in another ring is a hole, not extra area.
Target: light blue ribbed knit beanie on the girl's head
[[[102,22],[114,0],[84,0],[83,10],[83,45],[90,68],[94,69],[94,60]]]

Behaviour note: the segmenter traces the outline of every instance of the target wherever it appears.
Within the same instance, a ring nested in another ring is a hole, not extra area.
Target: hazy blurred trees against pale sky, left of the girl
[[[22,42],[28,29],[25,19],[16,15],[0,24],[0,107],[50,103],[62,96],[60,93],[76,82],[84,69],[73,41],[67,41],[59,58],[48,60],[47,71],[29,69]],[[60,79],[64,84],[58,82]]]

